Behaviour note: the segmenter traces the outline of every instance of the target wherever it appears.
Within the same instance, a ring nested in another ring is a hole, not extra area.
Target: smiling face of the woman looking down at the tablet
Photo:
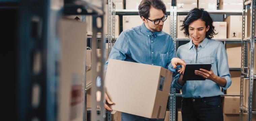
[[[188,26],[189,36],[195,45],[199,45],[204,40],[208,30],[209,26],[206,28],[201,19],[197,19]]]

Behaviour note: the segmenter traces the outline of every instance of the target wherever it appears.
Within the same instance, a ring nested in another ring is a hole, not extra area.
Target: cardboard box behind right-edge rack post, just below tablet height
[[[253,105],[252,110],[256,111],[256,80],[253,81]],[[248,108],[249,79],[244,79],[244,106]]]

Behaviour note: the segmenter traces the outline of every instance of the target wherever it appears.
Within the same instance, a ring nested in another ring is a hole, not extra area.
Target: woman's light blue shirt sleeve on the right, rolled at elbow
[[[217,72],[219,77],[223,77],[227,81],[225,87],[220,87],[223,89],[227,89],[231,85],[232,80],[229,73],[227,52],[223,43],[220,43],[217,50]]]

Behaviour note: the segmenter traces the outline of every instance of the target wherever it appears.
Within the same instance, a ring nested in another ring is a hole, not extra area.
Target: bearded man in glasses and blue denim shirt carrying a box
[[[161,0],[142,0],[139,7],[142,25],[123,31],[113,46],[109,59],[125,60],[142,64],[161,66],[175,71],[176,65],[185,66],[185,62],[175,57],[172,38],[162,31],[167,19],[166,7]],[[106,66],[108,64],[106,62]],[[184,68],[179,71],[182,73]],[[106,102],[113,105],[105,94]],[[108,105],[105,108],[112,111]],[[155,120],[132,114],[122,113],[122,121]]]

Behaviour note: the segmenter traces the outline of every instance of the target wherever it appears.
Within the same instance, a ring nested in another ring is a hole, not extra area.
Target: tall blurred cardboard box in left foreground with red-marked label
[[[61,19],[58,30],[62,54],[57,120],[79,121],[83,119],[86,24]]]

